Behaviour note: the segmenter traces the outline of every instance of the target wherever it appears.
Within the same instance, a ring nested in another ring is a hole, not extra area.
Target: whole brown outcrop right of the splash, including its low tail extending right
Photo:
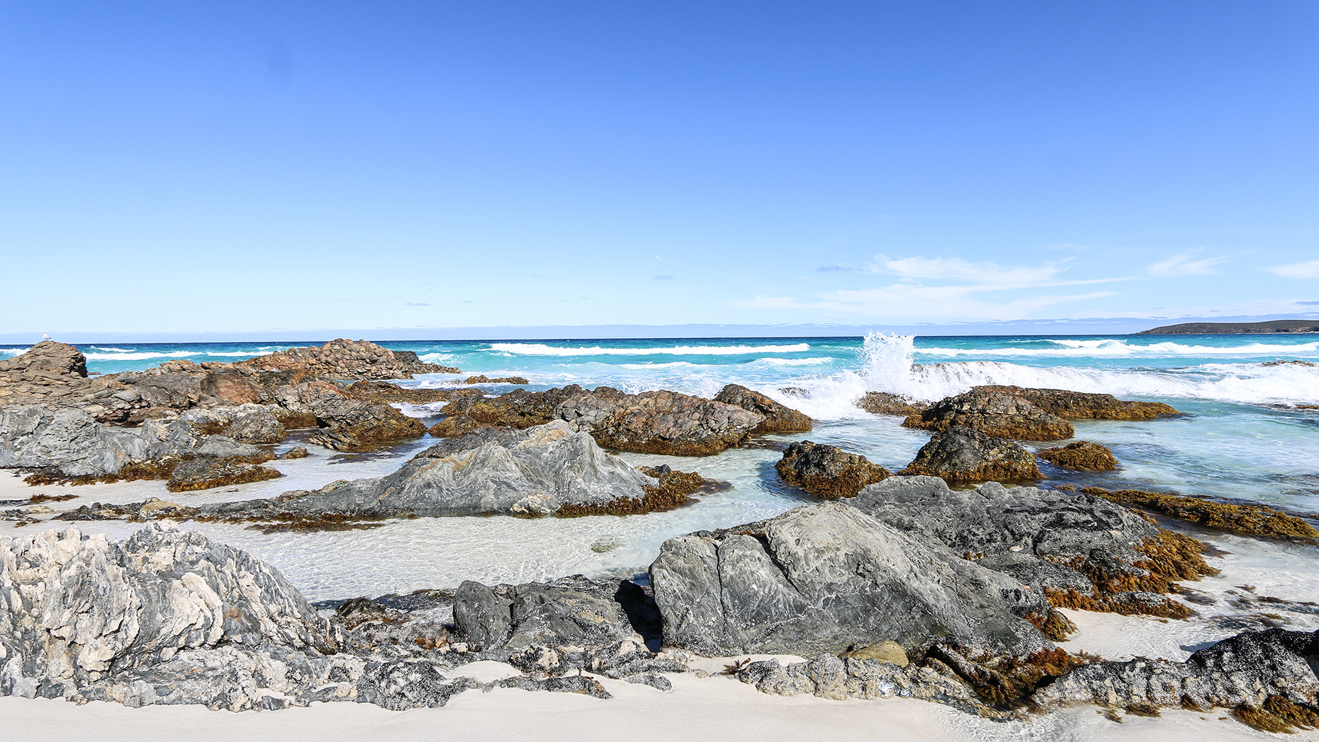
[[[1162,403],[1122,401],[1113,395],[984,386],[944,399],[902,424],[923,430],[964,425],[1004,438],[1062,441],[1075,433],[1067,420],[1153,420],[1166,415],[1178,412]]]

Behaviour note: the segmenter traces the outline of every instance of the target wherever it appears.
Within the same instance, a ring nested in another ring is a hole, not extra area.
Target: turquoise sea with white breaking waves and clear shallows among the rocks
[[[284,343],[80,345],[91,371],[141,370],[161,362],[240,360]],[[1144,422],[1078,421],[1076,436],[1113,450],[1121,469],[1075,474],[1050,469],[1049,482],[1138,487],[1262,502],[1319,512],[1319,337],[905,337],[667,338],[565,341],[383,342],[463,374],[423,375],[404,386],[445,387],[470,374],[518,375],[543,389],[609,386],[628,392],[674,389],[714,396],[744,384],[815,419],[810,433],[770,436],[707,458],[623,454],[633,463],[669,463],[732,486],[670,512],[576,519],[441,518],[389,522],[369,531],[265,535],[241,525],[195,524],[218,540],[276,564],[313,599],[452,588],[463,580],[517,582],[562,574],[624,574],[645,568],[665,539],[769,518],[811,502],[785,487],[773,463],[790,441],[809,438],[867,455],[890,470],[905,466],[929,434],[855,407],[867,391],[938,400],[976,384],[1018,384],[1121,399],[1165,401],[1184,415]],[[0,358],[24,351],[0,347]],[[1304,363],[1277,363],[1304,362]],[[492,393],[514,387],[491,387]],[[783,392],[782,389],[793,389]],[[438,419],[441,405],[402,405]],[[297,436],[295,436],[297,437]],[[289,441],[295,442],[295,440]],[[373,454],[311,446],[306,459],[276,462],[285,477],[200,494],[170,495],[158,482],[98,487],[102,502],[162,496],[187,503],[270,496],[335,479],[379,477],[397,469],[429,437]],[[285,444],[288,445],[288,444]],[[1060,444],[1046,444],[1054,446]],[[1041,448],[1030,444],[1031,448]],[[282,448],[282,446],[281,446]],[[77,494],[78,489],[67,490]],[[90,498],[88,498],[90,502]],[[69,503],[79,504],[78,500]],[[190,525],[191,527],[191,525]],[[131,524],[86,524],[125,535]],[[1210,535],[1223,544],[1240,539]],[[1253,551],[1252,551],[1253,549]],[[1294,599],[1319,599],[1319,556],[1311,547],[1249,547],[1261,581],[1293,585]],[[1245,558],[1245,557],[1242,557]],[[1278,590],[1286,591],[1283,588]]]

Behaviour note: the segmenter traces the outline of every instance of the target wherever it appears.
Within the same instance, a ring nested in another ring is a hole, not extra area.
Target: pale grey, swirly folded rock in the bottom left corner
[[[77,528],[0,537],[0,694],[63,696],[186,648],[331,650],[324,622],[265,564],[160,525],[112,543]]]

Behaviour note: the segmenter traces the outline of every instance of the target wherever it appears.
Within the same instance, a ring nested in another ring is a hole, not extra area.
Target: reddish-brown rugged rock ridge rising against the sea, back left
[[[412,379],[413,374],[456,374],[456,368],[422,363],[412,351],[394,351],[368,341],[334,339],[319,347],[294,347],[233,364],[244,371],[302,371],[330,379]]]

